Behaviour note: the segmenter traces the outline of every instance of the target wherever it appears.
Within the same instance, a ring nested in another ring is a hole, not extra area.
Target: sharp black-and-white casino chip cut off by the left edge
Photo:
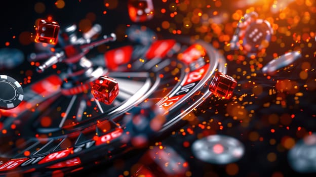
[[[0,75],[0,109],[12,109],[23,100],[23,89],[18,81],[7,75]]]

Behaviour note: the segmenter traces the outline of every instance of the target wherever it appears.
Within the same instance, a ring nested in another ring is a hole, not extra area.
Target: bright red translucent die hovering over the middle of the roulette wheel
[[[113,78],[101,76],[94,81],[91,93],[96,100],[110,105],[119,94],[119,84]]]

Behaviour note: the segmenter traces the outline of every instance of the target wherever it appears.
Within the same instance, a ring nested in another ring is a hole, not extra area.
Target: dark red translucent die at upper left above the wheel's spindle
[[[56,45],[59,25],[54,21],[39,20],[35,42],[45,42]]]

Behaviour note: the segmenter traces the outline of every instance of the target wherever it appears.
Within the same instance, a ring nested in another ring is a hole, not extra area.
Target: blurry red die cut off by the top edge
[[[128,11],[133,22],[144,22],[153,17],[151,0],[129,0]]]

